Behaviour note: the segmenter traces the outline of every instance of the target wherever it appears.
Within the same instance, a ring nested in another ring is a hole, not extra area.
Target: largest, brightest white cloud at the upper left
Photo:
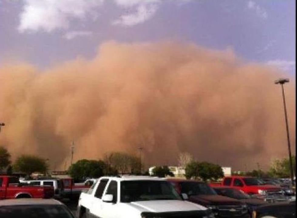
[[[83,19],[103,0],[25,0],[19,31],[68,29],[71,19]]]

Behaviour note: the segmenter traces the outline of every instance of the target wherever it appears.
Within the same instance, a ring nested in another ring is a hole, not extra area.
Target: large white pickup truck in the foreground
[[[79,218],[210,218],[209,209],[184,201],[164,179],[149,176],[101,177],[82,192]]]

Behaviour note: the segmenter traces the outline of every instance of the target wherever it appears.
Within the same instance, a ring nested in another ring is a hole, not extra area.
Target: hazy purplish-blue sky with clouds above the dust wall
[[[295,74],[294,0],[0,0],[0,64],[92,58],[108,40],[232,48]]]

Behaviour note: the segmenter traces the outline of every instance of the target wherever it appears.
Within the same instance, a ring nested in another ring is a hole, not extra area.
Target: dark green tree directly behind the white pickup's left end
[[[69,175],[75,180],[86,178],[99,178],[105,174],[106,164],[102,160],[82,159],[72,164],[69,169]]]

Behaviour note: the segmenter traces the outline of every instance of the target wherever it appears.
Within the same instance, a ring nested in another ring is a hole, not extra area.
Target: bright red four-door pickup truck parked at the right
[[[226,186],[244,191],[250,195],[269,195],[281,194],[282,189],[279,186],[264,185],[261,180],[248,176],[228,176],[224,177],[221,183],[212,183],[210,186]]]

